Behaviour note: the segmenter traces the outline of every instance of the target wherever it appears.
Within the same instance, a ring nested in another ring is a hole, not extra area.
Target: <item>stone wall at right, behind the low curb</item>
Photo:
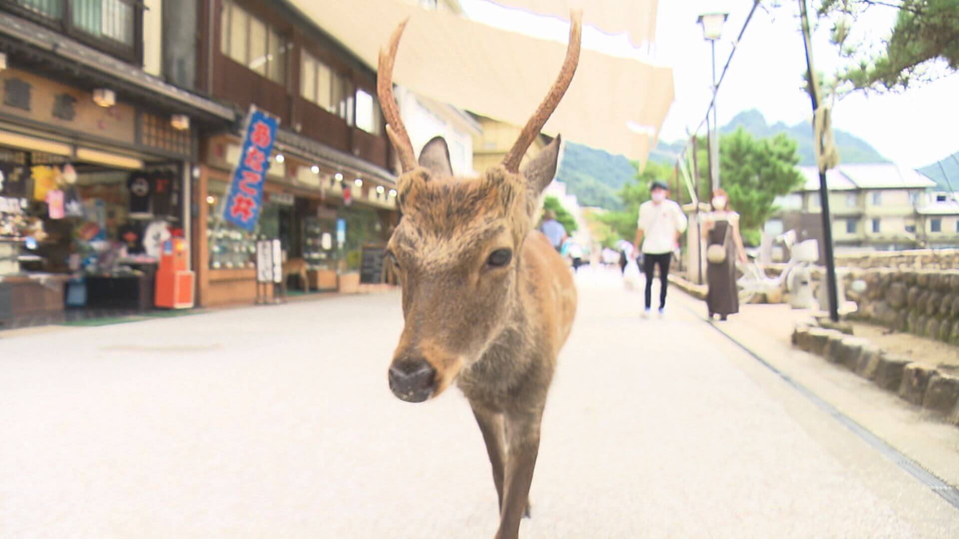
[[[854,314],[894,331],[959,345],[959,269],[865,269]],[[847,290],[849,290],[847,288]]]

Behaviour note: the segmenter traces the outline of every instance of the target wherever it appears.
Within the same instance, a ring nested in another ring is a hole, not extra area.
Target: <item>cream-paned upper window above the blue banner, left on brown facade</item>
[[[230,0],[223,2],[220,27],[222,54],[272,82],[286,82],[286,39]]]

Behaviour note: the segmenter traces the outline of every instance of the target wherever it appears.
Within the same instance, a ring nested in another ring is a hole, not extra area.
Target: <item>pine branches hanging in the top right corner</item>
[[[898,13],[879,52],[863,55],[858,51],[870,50],[870,44],[856,41],[854,30],[859,16],[872,9]],[[936,60],[959,70],[959,0],[822,0],[818,12],[832,20],[832,41],[852,62],[837,79],[855,89],[903,90],[911,82],[929,81]]]

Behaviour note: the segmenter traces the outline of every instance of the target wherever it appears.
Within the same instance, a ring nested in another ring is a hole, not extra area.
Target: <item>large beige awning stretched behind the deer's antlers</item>
[[[542,101],[566,54],[565,41],[514,34],[396,0],[292,2],[374,67],[380,47],[409,16],[394,82],[518,126]],[[583,50],[573,84],[543,131],[644,161],[672,99],[672,69]]]

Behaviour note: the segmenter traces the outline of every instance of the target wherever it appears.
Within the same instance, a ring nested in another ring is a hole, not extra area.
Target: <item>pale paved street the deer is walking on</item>
[[[959,510],[671,292],[584,274],[521,535],[956,537]],[[0,536],[492,537],[463,397],[397,400],[399,295],[0,334]]]

